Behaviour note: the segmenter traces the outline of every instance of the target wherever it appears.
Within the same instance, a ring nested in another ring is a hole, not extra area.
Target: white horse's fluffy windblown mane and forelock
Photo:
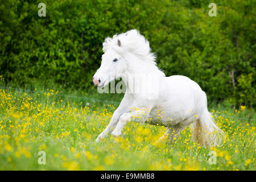
[[[115,34],[113,38],[106,38],[103,43],[103,51],[106,52],[109,48],[124,49],[127,52],[133,53],[139,59],[150,61],[156,65],[155,53],[151,52],[150,43],[143,35],[139,34],[138,30],[130,30],[123,34]]]

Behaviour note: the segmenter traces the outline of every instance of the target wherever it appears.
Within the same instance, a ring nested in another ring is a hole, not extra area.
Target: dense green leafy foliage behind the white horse
[[[92,88],[106,36],[137,28],[167,76],[199,83],[209,100],[255,104],[255,1],[1,1],[0,75],[14,85]]]

